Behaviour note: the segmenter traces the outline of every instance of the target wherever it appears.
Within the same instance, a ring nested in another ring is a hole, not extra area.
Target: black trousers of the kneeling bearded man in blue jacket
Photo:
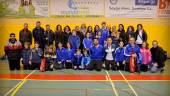
[[[102,70],[102,60],[92,60],[90,64],[88,65],[89,70],[96,70],[96,71],[101,71]]]

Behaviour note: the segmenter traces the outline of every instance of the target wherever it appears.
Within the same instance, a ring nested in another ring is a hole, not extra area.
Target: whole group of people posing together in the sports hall
[[[34,47],[30,48],[34,38]],[[36,22],[36,27],[31,32],[28,24],[19,32],[19,40],[11,33],[5,54],[9,61],[10,70],[20,70],[20,61],[25,70],[40,69],[45,60],[45,70],[59,69],[74,70],[125,70],[141,72],[163,72],[166,61],[165,51],[158,46],[158,42],[152,42],[149,49],[147,33],[142,24],[128,26],[125,32],[124,25],[119,24],[109,27],[102,22],[101,28],[96,25],[86,27],[75,26],[73,30],[69,26],[64,29],[56,26],[56,31],[46,25],[41,27],[41,22]],[[55,46],[55,48],[54,48]]]

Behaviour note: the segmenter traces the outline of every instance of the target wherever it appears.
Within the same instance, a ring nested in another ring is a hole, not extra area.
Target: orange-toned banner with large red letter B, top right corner
[[[158,17],[170,18],[170,0],[159,0]]]

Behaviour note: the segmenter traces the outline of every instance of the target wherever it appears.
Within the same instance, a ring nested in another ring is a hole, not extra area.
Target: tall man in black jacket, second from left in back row
[[[45,38],[44,38],[44,29],[41,27],[41,22],[36,22],[36,27],[33,29],[34,42],[39,44],[39,47],[44,49],[45,47]]]

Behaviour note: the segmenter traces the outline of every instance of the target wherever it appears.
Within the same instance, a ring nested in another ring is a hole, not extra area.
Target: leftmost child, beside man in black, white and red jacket
[[[31,54],[30,46],[28,42],[24,43],[24,49],[22,50],[21,53],[21,61],[24,66],[24,70],[29,70],[30,64],[29,64],[29,56]]]

